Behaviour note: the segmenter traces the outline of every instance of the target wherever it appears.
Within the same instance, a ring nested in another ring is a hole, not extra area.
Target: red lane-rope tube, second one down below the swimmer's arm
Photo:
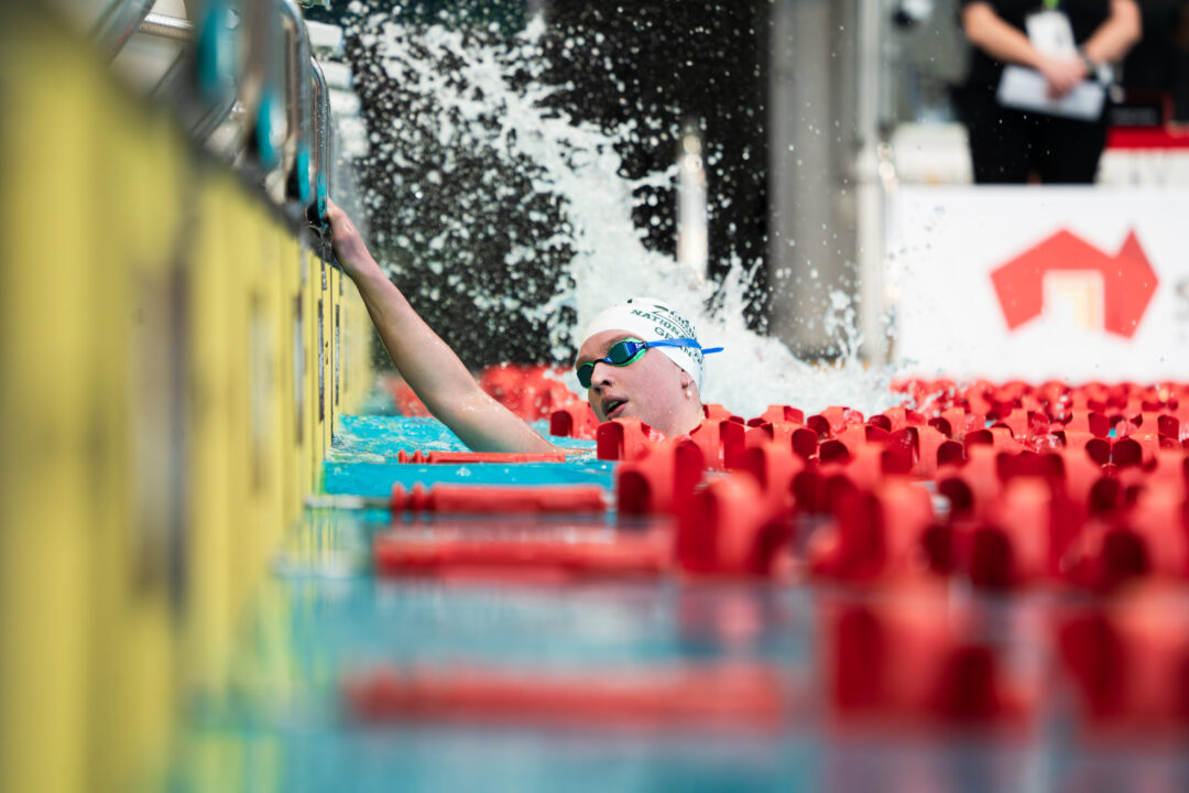
[[[452,485],[439,483],[426,489],[392,486],[394,512],[554,512],[602,514],[608,499],[598,485]]]

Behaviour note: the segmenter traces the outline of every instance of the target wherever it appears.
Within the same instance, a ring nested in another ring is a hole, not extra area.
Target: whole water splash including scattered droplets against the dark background
[[[810,411],[845,404],[872,413],[895,401],[889,372],[858,360],[862,339],[848,295],[831,295],[823,316],[805,317],[823,322],[841,353],[836,365],[810,365],[747,327],[747,295],[761,262],[734,256],[721,283],[704,283],[644,244],[648,229],[637,227],[634,210],[655,201],[658,188],[671,191],[677,168],[624,176],[619,144],[653,134],[655,121],[629,118],[608,130],[551,102],[572,86],[542,80],[548,63],[540,17],[505,38],[493,29],[410,25],[398,13],[365,13],[360,2],[352,10],[352,32],[380,67],[364,75],[371,80],[370,103],[389,103],[372,119],[372,143],[384,161],[375,164],[383,165],[392,189],[376,190],[372,180],[370,203],[377,218],[397,222],[377,222],[377,241],[407,292],[434,303],[458,292],[470,302],[479,334],[518,340],[515,334],[528,328],[547,347],[545,358],[556,363],[568,363],[574,334],[606,306],[658,296],[694,317],[704,342],[726,347],[707,359],[706,402],[753,416],[768,404]],[[571,43],[586,44],[566,46]],[[430,168],[427,156],[434,158]],[[443,196],[453,203],[442,203]],[[492,207],[477,206],[476,196],[515,210],[505,245],[477,239],[490,226]],[[429,212],[426,202],[433,204]],[[392,229],[388,237],[385,227]],[[490,266],[492,256],[501,278],[468,278],[480,258]],[[457,338],[447,340],[460,346]]]

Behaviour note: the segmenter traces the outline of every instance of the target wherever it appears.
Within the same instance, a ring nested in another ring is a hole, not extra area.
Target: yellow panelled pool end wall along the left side
[[[0,789],[156,788],[372,331],[175,113],[40,4],[0,21]]]

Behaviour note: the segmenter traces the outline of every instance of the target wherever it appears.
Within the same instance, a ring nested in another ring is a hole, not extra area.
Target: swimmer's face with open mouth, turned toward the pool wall
[[[640,418],[666,435],[690,432],[702,418],[698,386],[684,369],[658,350],[627,366],[602,361],[611,345],[638,338],[625,331],[603,331],[578,351],[575,365],[594,361],[587,398],[599,421]]]

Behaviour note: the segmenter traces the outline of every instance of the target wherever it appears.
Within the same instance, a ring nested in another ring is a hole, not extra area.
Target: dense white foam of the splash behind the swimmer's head
[[[539,42],[545,32],[540,17],[511,46],[468,40],[464,32],[441,25],[407,26],[389,14],[373,15],[367,30],[361,37],[365,45],[377,49],[392,78],[408,86],[411,74],[417,82],[415,90],[433,92],[443,139],[472,136],[482,138],[482,145],[497,156],[528,157],[541,168],[537,189],[565,200],[570,229],[559,231],[558,241],[574,251],[570,263],[573,289],[562,290],[542,306],[524,306],[514,296],[498,295],[478,295],[477,301],[503,300],[509,310],[534,319],[556,316],[559,309],[570,307],[577,314],[577,327],[581,328],[598,311],[628,297],[662,297],[694,320],[703,344],[726,348],[706,359],[703,401],[721,403],[743,416],[759,415],[769,404],[792,404],[807,414],[828,405],[847,405],[870,414],[900,401],[888,391],[891,372],[869,367],[858,359],[862,339],[849,295],[833,294],[824,316],[805,317],[823,322],[838,339],[843,353],[836,365],[810,365],[779,340],[747,328],[744,294],[753,273],[743,262],[730,263],[719,288],[703,283],[673,257],[643,245],[633,221],[636,201],[633,191],[648,184],[674,184],[677,166],[643,180],[628,180],[621,175],[616,143],[648,134],[643,125],[631,120],[608,134],[593,124],[547,107],[543,100],[555,90],[553,87],[536,80],[511,84],[510,63],[516,63],[522,73],[527,69],[533,77],[543,70],[533,65],[540,58]],[[432,57],[413,55],[414,44]],[[434,64],[443,59],[457,64],[457,74],[446,76],[435,69]],[[480,117],[490,119],[493,113],[499,119],[495,133],[479,122]],[[394,124],[400,125],[400,119]],[[712,163],[707,163],[707,169],[713,178]],[[448,175],[451,163],[442,163],[440,170]],[[534,256],[533,250],[515,248],[505,264],[510,269],[529,269]],[[719,289],[717,307],[707,314],[704,307]],[[551,331],[549,342],[559,360],[570,332],[567,327]],[[577,392],[578,385],[572,380],[566,378]]]

